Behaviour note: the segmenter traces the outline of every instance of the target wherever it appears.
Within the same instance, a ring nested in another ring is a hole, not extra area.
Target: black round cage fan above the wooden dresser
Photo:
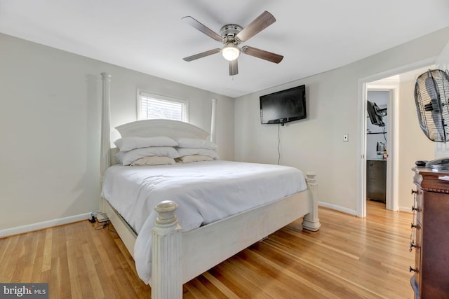
[[[422,132],[431,141],[449,141],[448,71],[433,69],[421,74],[415,83],[415,104]],[[426,167],[449,169],[449,157],[428,161]]]

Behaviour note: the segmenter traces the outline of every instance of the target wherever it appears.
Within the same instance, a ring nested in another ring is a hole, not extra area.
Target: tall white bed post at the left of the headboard
[[[103,179],[106,169],[111,166],[111,158],[109,149],[111,148],[110,140],[110,102],[111,102],[111,75],[101,73],[102,79],[102,116],[101,116],[101,144],[100,144],[100,177]]]

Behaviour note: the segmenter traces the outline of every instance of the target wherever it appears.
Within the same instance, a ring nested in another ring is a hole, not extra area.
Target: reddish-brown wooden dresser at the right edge
[[[410,249],[415,298],[449,298],[449,170],[413,169],[417,186]]]

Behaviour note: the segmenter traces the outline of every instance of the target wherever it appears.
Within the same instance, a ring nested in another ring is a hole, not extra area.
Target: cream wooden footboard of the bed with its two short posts
[[[182,284],[298,218],[304,229],[319,230],[315,175],[306,181],[302,193],[188,232],[177,224],[177,204],[161,202],[152,234],[152,298],[182,298]]]

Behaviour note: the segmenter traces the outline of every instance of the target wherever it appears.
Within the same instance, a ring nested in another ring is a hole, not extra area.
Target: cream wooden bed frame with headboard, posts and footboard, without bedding
[[[101,177],[114,164],[110,145],[110,81],[111,75],[102,73],[102,141]],[[213,102],[215,119],[215,102]],[[211,125],[212,130],[215,125]],[[206,139],[208,132],[188,123],[173,120],[139,120],[116,127],[121,137],[168,136]],[[215,139],[211,132],[210,139]],[[276,230],[303,217],[302,227],[316,231],[320,228],[318,218],[318,194],[314,174],[306,174],[308,189],[276,202],[264,204],[200,228],[182,232],[177,223],[177,204],[161,202],[155,208],[159,213],[152,231],[152,298],[182,298],[182,284],[197,277],[223,260],[267,237]],[[100,209],[107,213],[123,243],[134,254],[137,235],[119,213],[107,202],[100,200]],[[220,236],[220,237],[217,237]]]

